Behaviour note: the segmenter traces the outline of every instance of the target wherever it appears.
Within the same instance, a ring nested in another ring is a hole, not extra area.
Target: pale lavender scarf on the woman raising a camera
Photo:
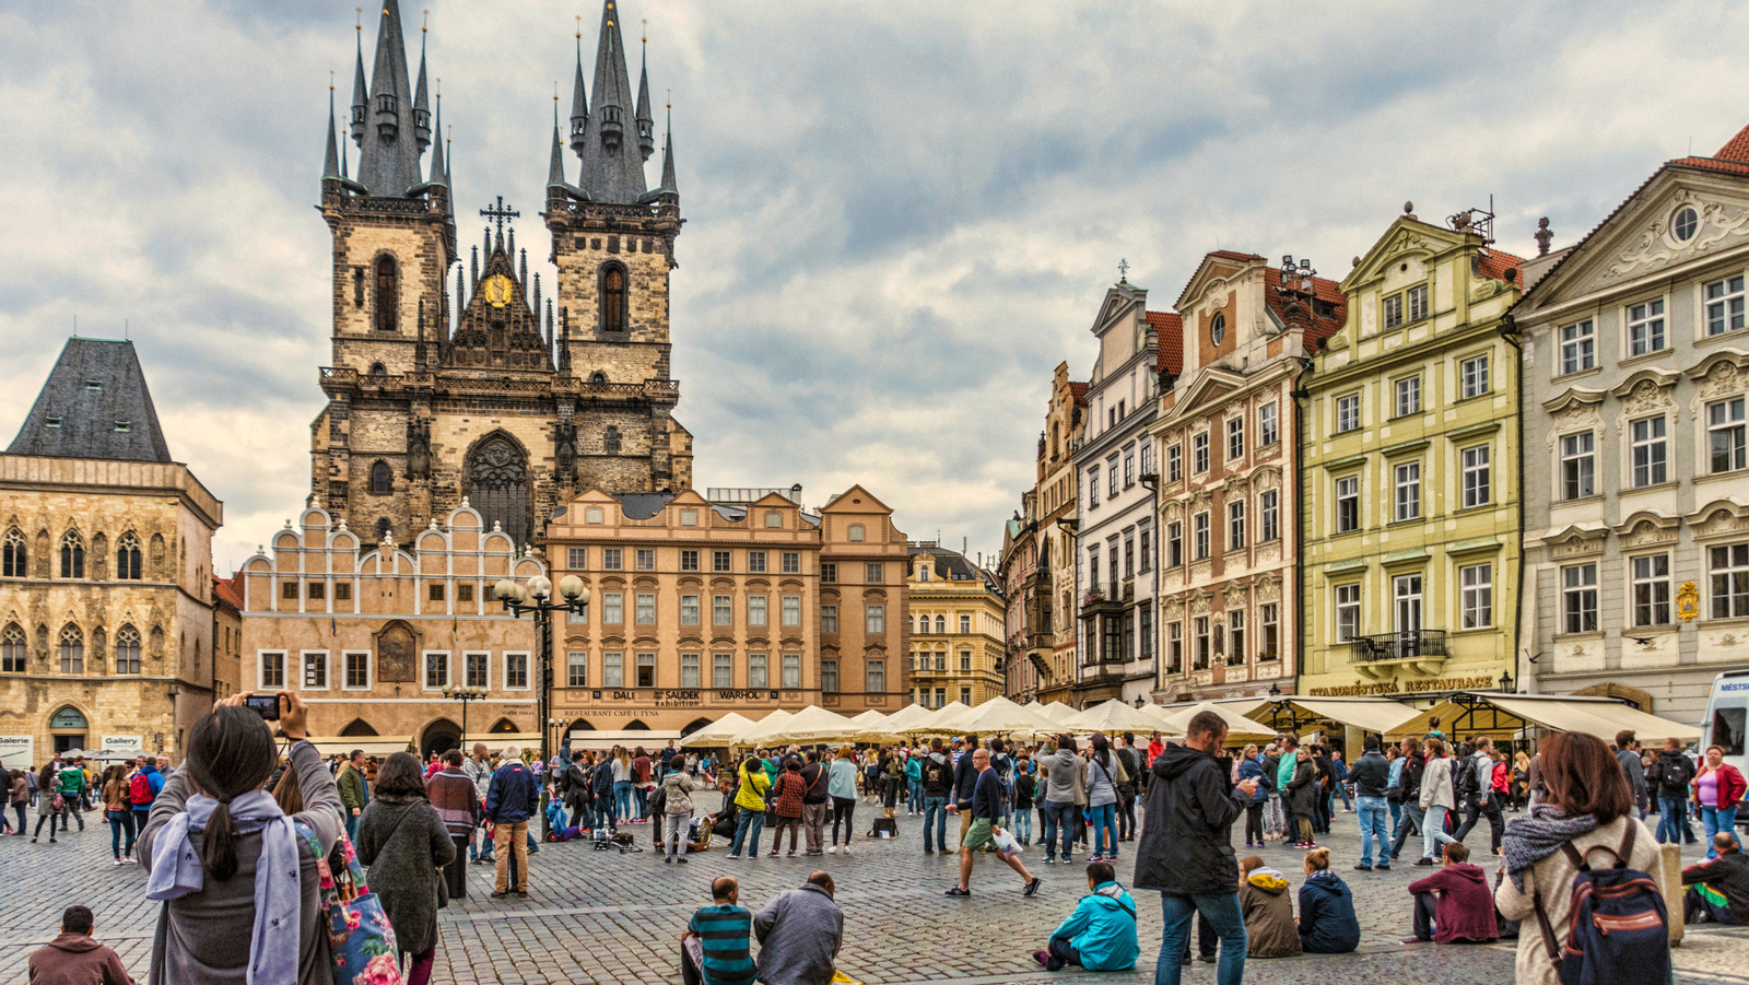
[[[219,801],[194,794],[184,812],[170,819],[152,845],[152,875],[147,899],[178,899],[199,892],[206,873],[189,842],[205,831]],[[303,892],[297,831],[268,791],[250,791],[231,800],[231,821],[240,835],[261,831],[261,861],[255,864],[255,926],[248,940],[248,985],[297,985]]]

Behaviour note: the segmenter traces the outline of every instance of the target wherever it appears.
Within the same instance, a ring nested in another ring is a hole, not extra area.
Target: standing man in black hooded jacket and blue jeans
[[[1165,926],[1154,964],[1158,985],[1177,985],[1189,947],[1191,917],[1203,915],[1221,940],[1217,985],[1238,985],[1245,975],[1245,920],[1238,910],[1238,866],[1231,828],[1244,814],[1256,780],[1230,789],[1216,752],[1226,742],[1226,723],[1216,712],[1196,712],[1182,745],[1168,745],[1154,759],[1147,780],[1142,842],[1137,847],[1137,889],[1160,892]]]

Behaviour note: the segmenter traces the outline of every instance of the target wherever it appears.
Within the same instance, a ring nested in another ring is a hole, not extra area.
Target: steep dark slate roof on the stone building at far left
[[[133,343],[68,339],[7,455],[170,462]]]

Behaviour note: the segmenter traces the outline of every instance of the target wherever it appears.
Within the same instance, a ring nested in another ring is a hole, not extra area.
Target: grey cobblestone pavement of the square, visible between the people
[[[859,828],[868,831],[873,805],[859,805]],[[86,831],[31,845],[28,838],[0,838],[0,871],[9,892],[0,901],[0,985],[24,982],[24,957],[54,936],[61,908],[84,903],[96,912],[98,938],[114,947],[129,971],[143,975],[152,947],[157,908],[142,892],[140,866],[110,866],[108,831],[98,814],[86,815]],[[31,819],[35,821],[35,817]],[[845,948],[840,969],[866,985],[909,985],[957,980],[972,985],[1051,982],[1086,973],[1048,975],[1032,964],[1030,950],[1086,891],[1081,864],[1042,864],[1034,847],[1023,856],[1044,877],[1041,892],[1025,899],[1020,880],[997,859],[981,856],[972,875],[971,899],[943,898],[953,885],[957,859],[922,854],[922,824],[899,819],[899,838],[859,838],[850,856],[764,857],[729,861],[726,847],[693,856],[686,866],[663,864],[649,849],[649,828],[635,826],[640,854],[593,852],[586,842],[547,845],[533,857],[530,896],[493,901],[491,871],[469,873],[467,899],[441,915],[442,950],[436,982],[458,983],[665,983],[679,982],[677,938],[696,906],[708,903],[710,880],[735,875],[742,905],[757,910],[775,892],[799,885],[822,868],[838,882],[845,910]],[[950,828],[951,831],[951,828]],[[1333,868],[1354,887],[1362,945],[1355,955],[1256,961],[1247,982],[1368,982],[1499,983],[1513,975],[1513,945],[1434,947],[1403,945],[1410,936],[1404,885],[1422,870],[1404,857],[1389,873],[1352,871],[1359,859],[1354,815],[1340,814]],[[764,845],[770,849],[770,840]],[[1133,843],[1123,845],[1125,852]],[[1244,854],[1244,850],[1242,850]],[[1261,852],[1298,885],[1301,854],[1272,847]],[[1684,854],[1698,857],[1690,850]],[[1077,856],[1079,857],[1079,856]],[[1488,861],[1488,859],[1481,859]],[[1492,868],[1492,866],[1490,866]],[[1133,859],[1119,861],[1128,884]],[[1160,905],[1139,892],[1142,964],[1135,973],[1100,975],[1100,985],[1151,982],[1160,947]],[[1749,985],[1749,931],[1700,929],[1676,952],[1681,983],[1725,982]],[[1212,983],[1214,966],[1186,971],[1189,983]]]

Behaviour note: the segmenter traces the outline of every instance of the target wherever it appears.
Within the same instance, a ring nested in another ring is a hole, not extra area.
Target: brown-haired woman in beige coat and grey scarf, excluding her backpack
[[[1562,845],[1571,845],[1579,857],[1604,849],[1599,859],[1611,864],[1618,859],[1609,852],[1627,849],[1627,857],[1620,861],[1660,884],[1663,863],[1651,831],[1634,817],[1634,791],[1604,740],[1560,731],[1543,740],[1537,758],[1543,794],[1530,817],[1506,826],[1506,861],[1501,868],[1508,878],[1494,891],[1494,905],[1508,920],[1530,920],[1541,901],[1560,945],[1571,924],[1571,887],[1578,875]],[[1523,983],[1551,985],[1558,980],[1541,933],[1518,936],[1515,969],[1516,982]]]

